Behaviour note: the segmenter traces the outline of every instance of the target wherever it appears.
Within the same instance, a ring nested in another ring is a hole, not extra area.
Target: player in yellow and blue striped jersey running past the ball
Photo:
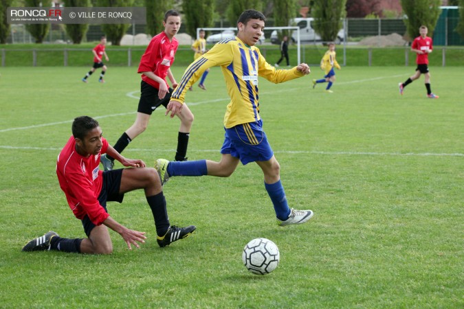
[[[292,69],[276,70],[266,62],[256,43],[263,34],[265,16],[256,10],[246,10],[239,17],[237,36],[223,40],[206,54],[195,60],[184,73],[166,108],[170,117],[184,113],[185,95],[210,67],[221,67],[230,96],[225,117],[225,138],[221,148],[221,161],[173,161],[158,159],[155,163],[162,182],[170,176],[219,176],[228,177],[237,168],[256,162],[264,174],[264,185],[272,200],[280,226],[307,222],[311,210],[290,209],[282,183],[280,165],[274,157],[267,136],[263,131],[263,120],[259,111],[258,76],[270,82],[280,83],[309,74],[306,63]]]

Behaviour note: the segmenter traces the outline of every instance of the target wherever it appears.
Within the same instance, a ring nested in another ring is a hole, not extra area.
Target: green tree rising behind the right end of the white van
[[[322,41],[335,41],[337,34],[343,27],[346,16],[346,0],[314,1],[311,14],[314,17],[314,30]]]

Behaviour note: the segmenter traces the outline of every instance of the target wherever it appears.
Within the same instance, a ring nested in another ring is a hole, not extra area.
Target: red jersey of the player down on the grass
[[[108,141],[102,138],[102,143],[101,153],[106,153]],[[94,225],[101,225],[109,216],[98,202],[103,183],[103,172],[98,170],[101,153],[82,157],[76,151],[76,140],[71,136],[56,161],[58,182],[74,216],[82,220],[88,215]]]

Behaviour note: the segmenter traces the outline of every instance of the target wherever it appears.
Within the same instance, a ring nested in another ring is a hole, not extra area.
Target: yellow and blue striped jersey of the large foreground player
[[[296,67],[276,70],[266,62],[258,47],[247,46],[236,37],[217,43],[209,52],[192,62],[171,95],[171,100],[184,103],[187,90],[210,67],[221,67],[230,97],[224,116],[225,128],[261,119],[258,76],[276,84],[303,76]]]

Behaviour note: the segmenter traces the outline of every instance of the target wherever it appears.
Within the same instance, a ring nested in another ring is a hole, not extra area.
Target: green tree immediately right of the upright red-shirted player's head
[[[182,2],[187,33],[197,37],[197,28],[210,27],[214,13],[214,0],[184,0]]]

